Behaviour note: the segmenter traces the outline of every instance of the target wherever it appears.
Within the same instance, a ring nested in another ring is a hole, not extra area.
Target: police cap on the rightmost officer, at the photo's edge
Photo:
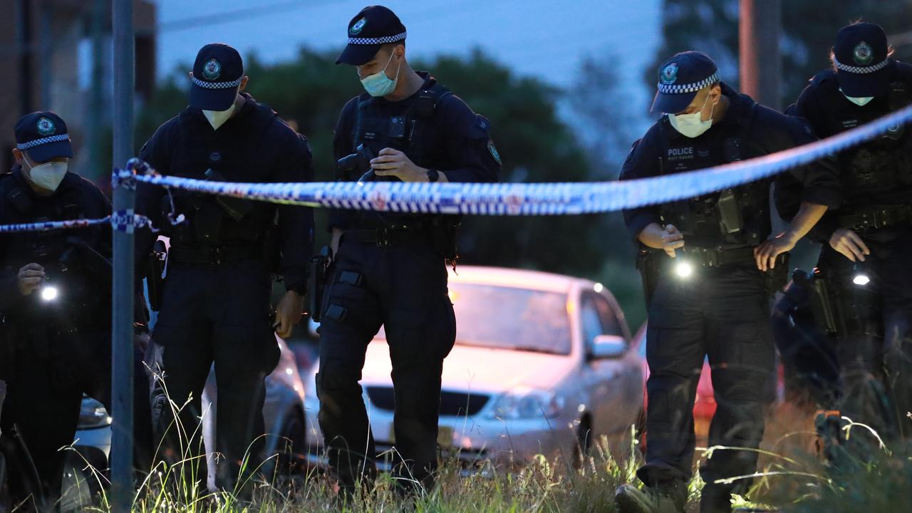
[[[839,89],[854,98],[886,93],[890,84],[890,58],[886,33],[873,23],[853,23],[836,33],[833,65]]]

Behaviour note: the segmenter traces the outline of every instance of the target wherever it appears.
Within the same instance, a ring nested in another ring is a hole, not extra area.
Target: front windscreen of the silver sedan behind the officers
[[[458,345],[570,354],[565,293],[451,283],[450,298]]]

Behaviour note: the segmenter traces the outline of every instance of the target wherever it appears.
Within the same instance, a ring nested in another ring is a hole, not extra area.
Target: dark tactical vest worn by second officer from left
[[[273,158],[264,146],[264,132],[275,120],[275,111],[256,103],[242,107],[234,121],[244,123],[242,135],[233,141],[215,143],[211,132],[196,130],[192,110],[183,110],[171,152],[171,173],[177,176],[215,182],[268,182],[266,163]],[[224,130],[220,129],[220,130]],[[223,198],[174,190],[178,213],[188,223],[171,229],[171,244],[177,246],[223,246],[255,244],[263,240],[272,224],[275,206],[251,200]],[[170,212],[168,197],[163,212]]]

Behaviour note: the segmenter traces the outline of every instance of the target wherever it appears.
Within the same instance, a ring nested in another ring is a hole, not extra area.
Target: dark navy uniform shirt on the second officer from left
[[[204,173],[212,167],[223,173],[224,181],[228,182],[312,181],[312,156],[304,136],[249,94],[242,93],[242,96],[244,105],[217,131],[212,130],[202,110],[189,107],[183,110],[155,131],[140,151],[140,159],[149,162],[158,173],[199,180],[205,180]],[[140,183],[137,212],[149,216],[156,227],[168,229],[170,222],[161,215],[164,194],[161,187]],[[212,196],[201,198],[213,201]],[[284,278],[286,288],[304,291],[307,265],[313,254],[313,210],[253,202],[252,214],[261,223],[260,234],[272,223],[276,209],[281,251],[279,275]],[[177,214],[188,215],[192,223],[191,212]],[[230,217],[223,220],[219,245],[250,244],[249,240],[233,239],[232,225],[237,224]],[[154,239],[155,236],[147,231],[138,232],[138,257],[149,253]]]

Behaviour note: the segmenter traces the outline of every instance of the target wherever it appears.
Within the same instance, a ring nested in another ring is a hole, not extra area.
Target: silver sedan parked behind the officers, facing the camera
[[[438,441],[463,470],[517,466],[534,455],[567,459],[601,436],[622,440],[640,414],[641,357],[624,312],[601,284],[498,267],[451,272],[456,345],[444,361]],[[365,403],[379,466],[395,444],[389,346],[368,345]],[[314,392],[306,373],[310,461],[325,460]]]

